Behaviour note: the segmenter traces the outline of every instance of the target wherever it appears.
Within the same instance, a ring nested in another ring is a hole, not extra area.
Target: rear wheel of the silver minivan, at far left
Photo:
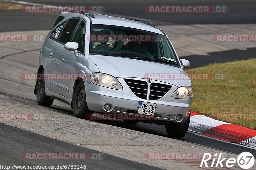
[[[41,72],[41,74],[44,74],[44,70]],[[36,100],[37,103],[41,106],[46,106],[50,107],[52,106],[53,100],[46,96],[45,94],[45,81],[44,77],[42,77],[41,80],[37,80],[37,85],[36,85]]]

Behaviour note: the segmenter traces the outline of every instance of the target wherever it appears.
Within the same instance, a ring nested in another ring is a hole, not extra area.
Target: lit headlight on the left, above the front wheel
[[[123,90],[123,87],[121,86],[119,81],[113,76],[110,76],[108,74],[93,73],[91,74],[91,80],[92,80],[92,83],[95,85],[100,85],[100,86],[108,87],[111,89]]]

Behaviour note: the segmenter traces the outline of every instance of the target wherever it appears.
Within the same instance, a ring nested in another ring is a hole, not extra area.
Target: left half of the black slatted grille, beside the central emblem
[[[132,92],[141,99],[147,99],[148,83],[140,80],[124,79]]]

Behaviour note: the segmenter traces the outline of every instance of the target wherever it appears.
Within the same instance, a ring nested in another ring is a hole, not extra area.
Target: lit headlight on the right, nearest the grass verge
[[[192,99],[193,89],[190,86],[179,87],[173,94],[172,98],[176,99]]]

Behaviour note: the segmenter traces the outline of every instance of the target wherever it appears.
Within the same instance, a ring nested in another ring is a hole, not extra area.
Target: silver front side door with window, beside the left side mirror
[[[84,55],[84,37],[85,37],[85,22],[80,21],[76,27],[71,41],[78,43],[79,55]],[[79,57],[79,56],[78,56]],[[62,63],[60,65],[60,72],[63,73],[63,78],[60,80],[60,85],[64,88],[59,88],[62,96],[72,99],[72,88],[75,79],[76,58],[73,51],[64,50],[62,55]],[[65,61],[65,62],[64,62]],[[65,74],[65,75],[64,75]]]

